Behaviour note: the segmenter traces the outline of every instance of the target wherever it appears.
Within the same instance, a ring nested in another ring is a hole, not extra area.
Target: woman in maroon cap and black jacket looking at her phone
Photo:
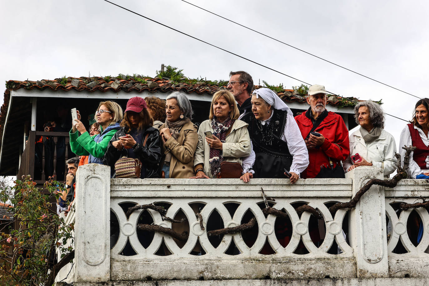
[[[140,178],[159,178],[161,137],[152,127],[153,120],[145,99],[136,96],[127,102],[121,129],[109,142],[103,162],[115,174],[115,163],[121,157],[139,159],[142,163]]]

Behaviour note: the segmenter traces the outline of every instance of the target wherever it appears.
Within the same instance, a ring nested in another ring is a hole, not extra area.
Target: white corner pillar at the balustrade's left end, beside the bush
[[[76,181],[75,281],[109,281],[110,167],[80,166]]]

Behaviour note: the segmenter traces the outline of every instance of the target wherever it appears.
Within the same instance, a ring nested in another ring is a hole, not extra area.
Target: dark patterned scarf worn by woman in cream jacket
[[[213,135],[219,138],[222,143],[225,143],[227,138],[227,131],[234,124],[236,120],[231,120],[228,117],[224,122],[219,122],[216,117],[211,120],[211,128],[213,128]],[[210,173],[213,177],[221,172],[221,163],[224,160],[222,149],[213,149],[210,147],[210,155],[208,162],[210,163]]]

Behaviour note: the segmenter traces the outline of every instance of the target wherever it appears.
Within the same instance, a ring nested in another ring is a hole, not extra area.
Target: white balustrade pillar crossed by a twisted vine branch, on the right
[[[383,170],[361,166],[346,173],[353,179],[352,196],[369,179],[383,179]],[[356,257],[357,277],[388,277],[384,188],[373,185],[350,211],[350,246]]]

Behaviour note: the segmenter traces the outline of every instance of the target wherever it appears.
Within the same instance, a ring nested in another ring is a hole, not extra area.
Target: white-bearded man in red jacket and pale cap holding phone
[[[347,127],[340,115],[326,110],[326,94],[323,85],[312,85],[307,96],[310,108],[295,117],[307,145],[310,161],[307,169],[301,174],[302,178],[335,178],[317,175],[323,168],[326,168],[323,172],[326,174],[326,171],[329,173],[338,165],[341,167],[341,160],[350,155]]]

